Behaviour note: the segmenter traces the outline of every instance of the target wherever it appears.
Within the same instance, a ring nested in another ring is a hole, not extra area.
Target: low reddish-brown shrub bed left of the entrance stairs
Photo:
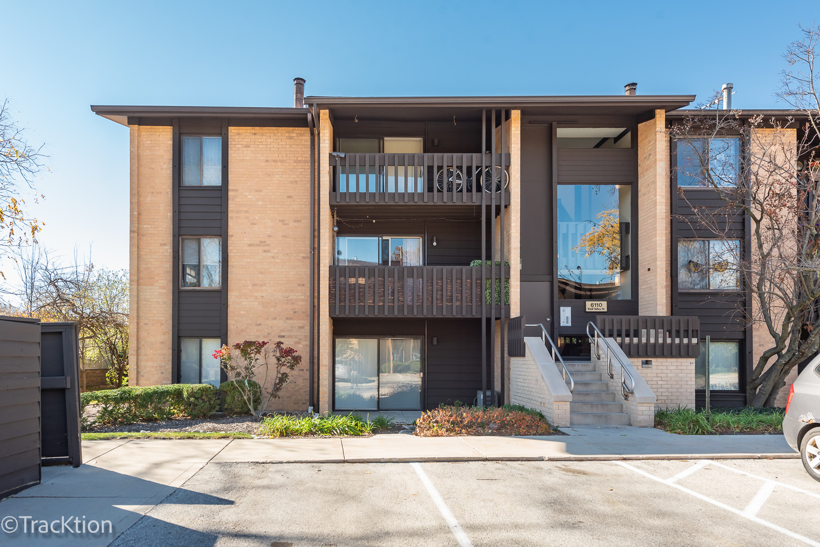
[[[440,407],[421,413],[415,434],[421,437],[458,435],[550,435],[555,430],[541,413],[518,405],[499,408]]]

